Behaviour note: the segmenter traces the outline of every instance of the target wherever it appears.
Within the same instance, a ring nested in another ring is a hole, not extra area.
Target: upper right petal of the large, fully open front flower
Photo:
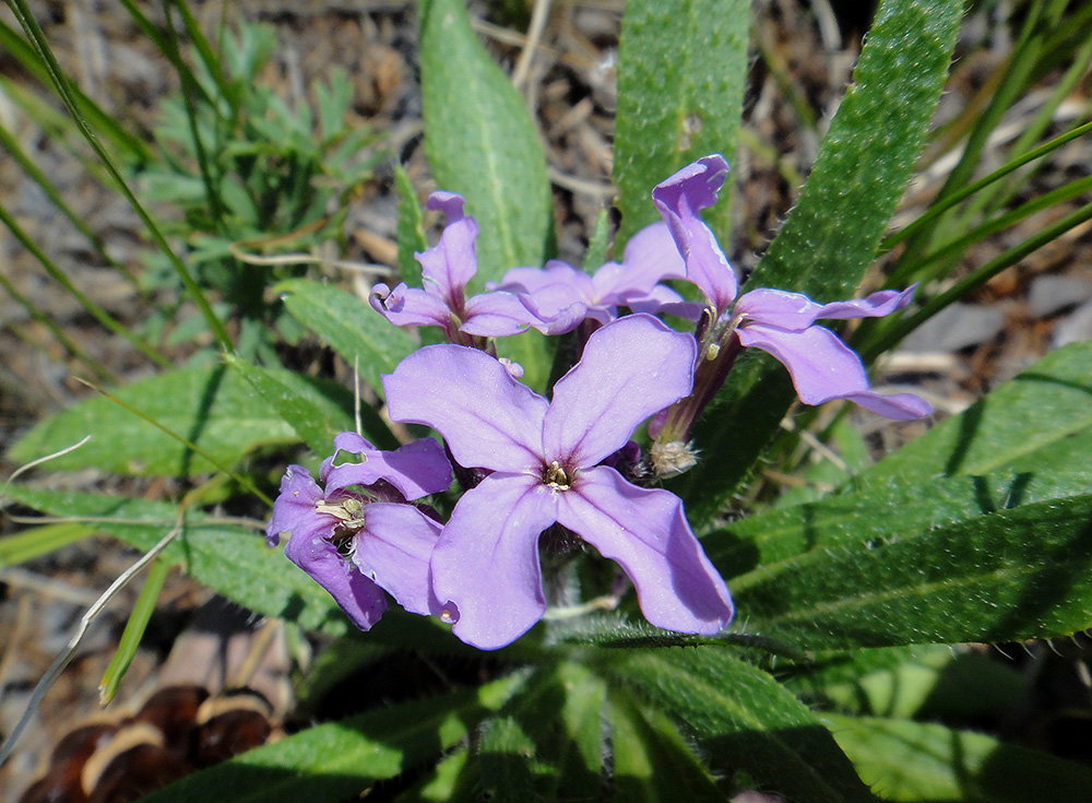
[[[596,330],[573,368],[554,386],[546,413],[546,461],[594,465],[638,425],[690,392],[697,352],[689,334],[649,315]]]

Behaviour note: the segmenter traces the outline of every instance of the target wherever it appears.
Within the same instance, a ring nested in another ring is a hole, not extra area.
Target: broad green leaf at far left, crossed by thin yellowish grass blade
[[[114,394],[226,467],[256,446],[296,439],[280,415],[258,403],[253,388],[224,366],[182,368],[133,382]],[[73,471],[94,467],[141,476],[192,476],[216,468],[103,397],[46,418],[12,447],[11,459],[28,462],[72,446],[86,435],[91,440],[50,461],[50,468]]]

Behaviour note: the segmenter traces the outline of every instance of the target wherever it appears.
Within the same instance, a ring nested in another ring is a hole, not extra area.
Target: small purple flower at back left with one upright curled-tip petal
[[[452,343],[472,345],[475,335],[518,334],[534,322],[534,317],[510,293],[466,297],[466,284],[477,273],[474,240],[478,226],[473,217],[463,215],[463,203],[462,196],[454,192],[434,192],[428,198],[428,208],[442,210],[448,225],[435,248],[415,255],[425,288],[407,287],[405,282],[394,290],[377,284],[369,300],[395,326],[440,327]]]

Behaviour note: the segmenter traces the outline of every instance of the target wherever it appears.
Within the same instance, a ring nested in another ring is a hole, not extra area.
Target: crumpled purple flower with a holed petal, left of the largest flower
[[[336,460],[342,452],[361,462]],[[447,491],[451,464],[432,439],[380,451],[356,433],[334,438],[316,484],[289,465],[265,530],[270,546],[289,533],[284,554],[330,592],[361,630],[387,610],[385,589],[406,611],[439,615],[428,559],[442,529],[405,503]]]

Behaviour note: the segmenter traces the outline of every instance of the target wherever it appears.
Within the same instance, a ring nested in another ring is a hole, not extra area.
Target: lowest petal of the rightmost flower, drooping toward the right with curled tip
[[[780,359],[800,401],[822,404],[850,399],[889,418],[919,418],[931,412],[929,404],[912,393],[880,395],[868,388],[860,357],[836,334],[822,327],[786,332],[773,327],[749,324],[736,330],[745,346],[755,346]]]

